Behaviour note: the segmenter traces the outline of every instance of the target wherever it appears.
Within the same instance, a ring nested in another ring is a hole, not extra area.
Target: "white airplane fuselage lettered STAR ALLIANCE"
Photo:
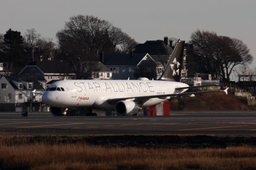
[[[54,89],[56,87],[56,89]],[[59,88],[58,88],[59,87]],[[141,107],[156,105],[170,97],[160,95],[177,93],[175,88],[188,87],[185,83],[153,80],[63,80],[50,85],[42,95],[42,101],[51,107],[91,107],[114,109],[108,99],[136,98],[159,95],[159,98],[146,99]],[[63,91],[64,89],[64,91]],[[179,91],[183,93],[186,89]]]

